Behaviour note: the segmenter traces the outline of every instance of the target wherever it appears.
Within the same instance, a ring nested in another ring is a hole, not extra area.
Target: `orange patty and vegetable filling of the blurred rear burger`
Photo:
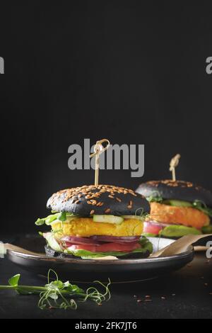
[[[201,201],[163,200],[160,196],[147,198],[151,205],[151,218],[144,222],[143,235],[182,237],[212,232],[212,210]],[[158,222],[158,223],[157,223]]]

